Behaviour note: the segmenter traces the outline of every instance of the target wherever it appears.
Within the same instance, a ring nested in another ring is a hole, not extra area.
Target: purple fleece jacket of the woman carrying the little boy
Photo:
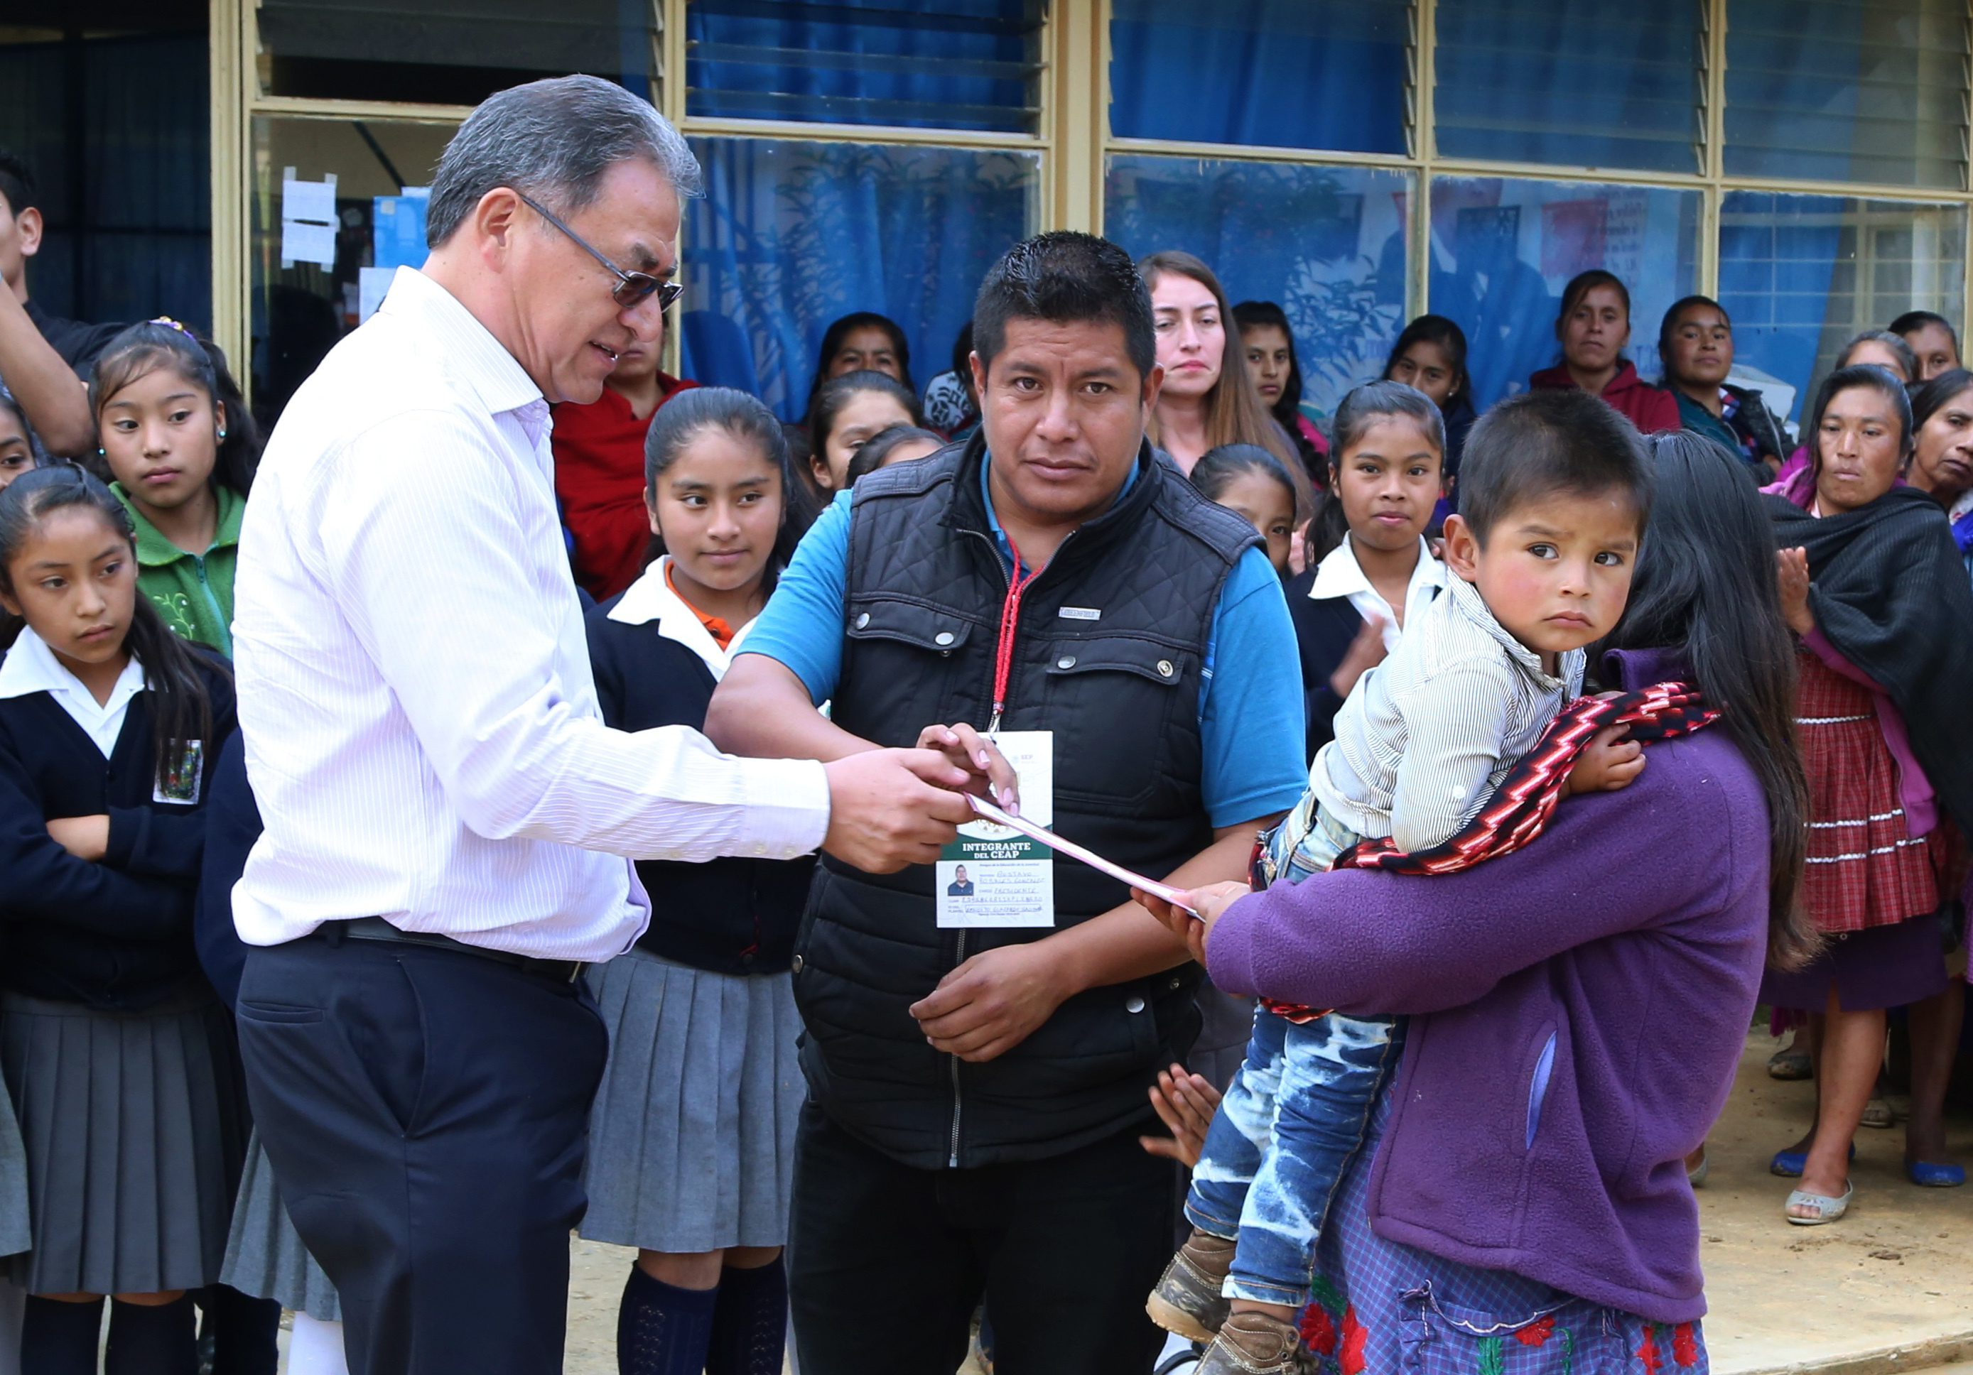
[[[1620,657],[1626,687],[1685,677],[1661,651]],[[1241,898],[1206,953],[1227,992],[1411,1014],[1377,1235],[1677,1324],[1707,1308],[1683,1158],[1754,1014],[1768,811],[1718,726],[1645,760],[1478,868]]]

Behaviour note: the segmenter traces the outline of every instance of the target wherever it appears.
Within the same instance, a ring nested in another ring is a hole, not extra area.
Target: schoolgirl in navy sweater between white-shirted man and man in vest
[[[651,422],[645,505],[665,552],[586,615],[596,696],[618,730],[696,730],[805,529],[803,483],[771,410],[702,387]],[[588,975],[610,1065],[580,1231],[637,1247],[621,1371],[781,1371],[803,1101],[789,965],[813,866],[641,860],[651,925]]]

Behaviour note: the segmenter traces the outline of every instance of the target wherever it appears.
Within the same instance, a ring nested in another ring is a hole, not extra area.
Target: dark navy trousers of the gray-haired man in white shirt
[[[351,1375],[560,1371],[610,1051],[582,982],[312,937],[247,957],[239,1028],[282,1201],[343,1302]]]

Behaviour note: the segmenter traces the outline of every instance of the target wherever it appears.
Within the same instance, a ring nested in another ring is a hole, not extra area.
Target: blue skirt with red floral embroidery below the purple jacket
[[[1377,1237],[1365,1205],[1389,1107],[1385,1087],[1316,1251],[1302,1338],[1324,1375],[1705,1375],[1697,1322],[1649,1322]]]

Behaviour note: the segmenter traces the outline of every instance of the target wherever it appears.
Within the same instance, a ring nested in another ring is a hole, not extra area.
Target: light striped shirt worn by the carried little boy
[[[1405,852],[1450,840],[1582,690],[1582,663],[1571,649],[1549,677],[1480,592],[1450,576],[1336,712],[1308,785],[1361,836],[1391,836]]]

